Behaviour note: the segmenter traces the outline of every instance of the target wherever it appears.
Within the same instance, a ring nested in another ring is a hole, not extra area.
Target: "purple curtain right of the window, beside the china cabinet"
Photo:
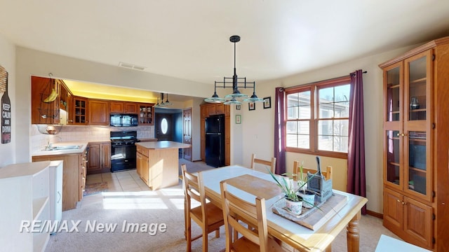
[[[351,73],[347,192],[366,197],[362,70]],[[366,205],[362,208],[366,214]]]

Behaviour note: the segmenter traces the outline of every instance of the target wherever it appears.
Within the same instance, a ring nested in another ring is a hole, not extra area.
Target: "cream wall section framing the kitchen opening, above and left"
[[[48,76],[48,73],[53,73],[54,78],[80,80],[87,83],[118,85],[192,97],[208,97],[210,95],[210,85],[189,80],[88,62],[22,47],[16,48],[16,55],[18,69],[16,95],[24,101],[31,100],[30,76]],[[15,116],[17,121],[20,121],[20,125],[15,130],[18,135],[17,161],[29,162],[32,151],[29,137],[32,132],[30,103],[20,104]]]

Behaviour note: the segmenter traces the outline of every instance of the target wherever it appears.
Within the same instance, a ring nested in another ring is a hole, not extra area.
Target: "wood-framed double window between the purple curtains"
[[[349,76],[286,89],[287,151],[346,158]]]

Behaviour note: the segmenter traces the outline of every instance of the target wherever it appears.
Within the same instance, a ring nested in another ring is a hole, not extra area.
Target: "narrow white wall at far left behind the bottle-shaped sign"
[[[11,100],[11,142],[8,144],[0,144],[0,167],[15,163],[15,146],[17,142],[17,104],[15,99],[15,45],[10,43],[4,36],[0,35],[0,65],[8,71],[8,97]],[[0,98],[3,95],[0,92]]]

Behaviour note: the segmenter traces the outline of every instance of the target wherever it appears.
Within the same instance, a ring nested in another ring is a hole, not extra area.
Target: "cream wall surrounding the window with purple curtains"
[[[257,96],[272,97],[272,109],[263,109],[262,104],[256,105],[255,111],[248,111],[248,104],[242,106],[242,125],[234,126],[239,137],[234,138],[233,145],[242,146],[243,151],[234,151],[234,160],[243,160],[243,165],[250,165],[251,153],[259,158],[269,159],[274,148],[274,88],[292,87],[312,83],[328,78],[347,76],[349,73],[363,69],[363,96],[365,115],[365,150],[366,150],[366,186],[368,210],[382,213],[382,70],[379,64],[401,55],[416,45],[384,52],[370,57],[354,59],[342,64],[328,66],[323,69],[300,73],[281,80],[257,83]],[[250,76],[246,76],[250,78]],[[241,127],[241,132],[239,131]],[[239,158],[237,158],[239,157]],[[316,167],[314,155],[287,153],[287,172],[293,172],[293,161],[304,161],[304,167]],[[321,167],[333,166],[333,186],[337,190],[346,190],[347,160],[321,158]]]

